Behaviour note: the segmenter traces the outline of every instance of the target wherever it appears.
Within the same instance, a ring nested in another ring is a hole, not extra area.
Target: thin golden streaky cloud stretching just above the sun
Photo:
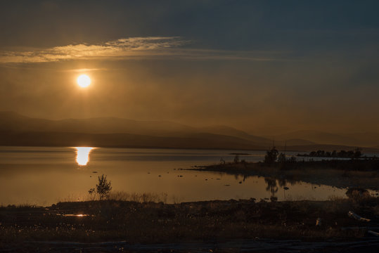
[[[183,48],[193,41],[181,37],[133,37],[101,44],[70,44],[27,51],[0,51],[0,63],[49,63],[61,60],[169,57],[187,60],[288,60],[289,52],[225,51]]]

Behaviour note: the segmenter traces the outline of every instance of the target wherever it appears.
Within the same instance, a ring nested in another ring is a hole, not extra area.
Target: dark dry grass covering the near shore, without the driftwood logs
[[[363,237],[365,231],[341,230],[345,226],[361,226],[347,212],[352,210],[373,222],[378,222],[375,219],[379,212],[378,198],[258,203],[229,200],[167,205],[145,201],[157,196],[146,195],[143,199],[143,195],[118,193],[116,197],[135,198],[139,202],[60,202],[48,209],[2,207],[0,243],[27,240],[152,243],[255,237],[351,240]],[[318,218],[322,219],[320,227],[315,226]]]

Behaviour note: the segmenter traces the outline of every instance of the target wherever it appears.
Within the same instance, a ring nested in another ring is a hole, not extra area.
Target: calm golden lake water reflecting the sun
[[[108,176],[113,190],[167,193],[167,202],[250,197],[259,200],[272,193],[278,200],[346,197],[345,189],[331,186],[315,188],[309,183],[297,183],[287,185],[289,190],[284,190],[278,182],[257,176],[243,179],[179,170],[213,164],[221,157],[231,162],[234,156],[229,153],[250,153],[240,156],[248,162],[262,161],[265,154],[238,150],[0,147],[0,205],[51,205],[64,200],[84,200],[101,174]]]

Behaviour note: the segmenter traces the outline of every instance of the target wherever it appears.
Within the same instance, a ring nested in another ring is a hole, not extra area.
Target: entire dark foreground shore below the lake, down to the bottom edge
[[[371,221],[358,221],[349,211]],[[60,202],[1,207],[0,223],[2,252],[371,252],[379,247],[368,232],[379,232],[379,198]]]

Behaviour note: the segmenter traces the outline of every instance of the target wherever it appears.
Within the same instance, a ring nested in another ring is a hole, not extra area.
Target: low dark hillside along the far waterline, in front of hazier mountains
[[[0,145],[91,146],[113,148],[210,148],[260,150],[262,146],[231,136],[193,134],[161,137],[137,134],[81,134],[65,132],[0,132]]]

